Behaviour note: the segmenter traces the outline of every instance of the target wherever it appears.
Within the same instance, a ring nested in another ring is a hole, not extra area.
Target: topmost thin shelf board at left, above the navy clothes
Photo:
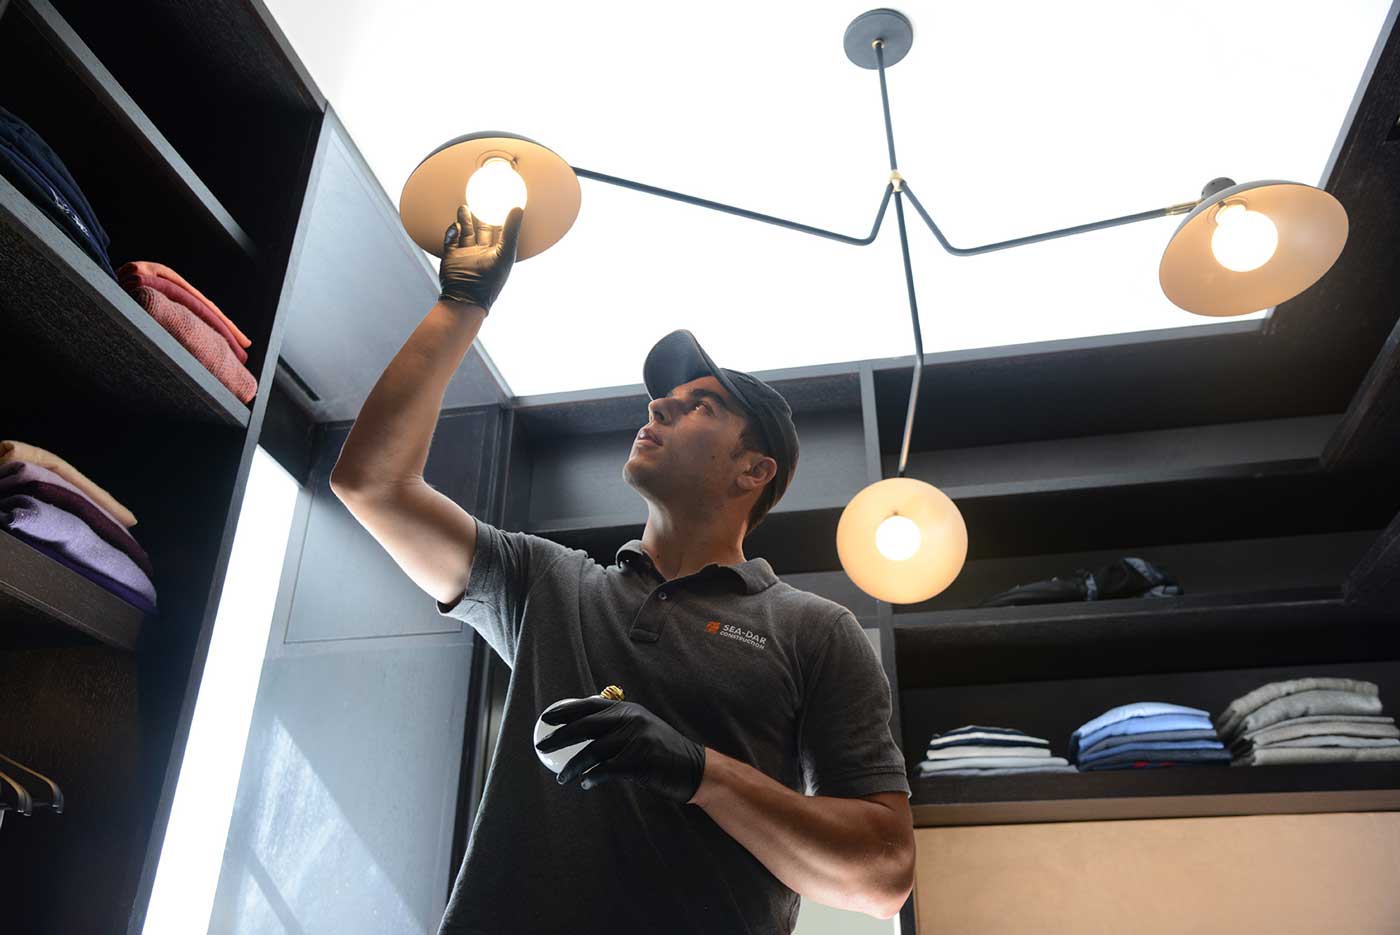
[[[195,174],[183,157],[175,151],[165,136],[122,90],[91,49],[78,38],[48,0],[14,0],[14,8],[22,13],[43,38],[63,56],[73,73],[92,92],[102,108],[130,136],[150,158],[153,171],[165,181],[200,213],[209,228],[217,231],[238,246],[248,258],[258,256],[258,248],[234,216],[214,197],[209,186]]]

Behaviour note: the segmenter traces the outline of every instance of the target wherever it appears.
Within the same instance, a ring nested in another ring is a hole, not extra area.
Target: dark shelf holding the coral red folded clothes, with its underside
[[[143,410],[248,426],[248,406],[4,178],[0,314],[7,351],[64,367],[56,392],[85,378]]]

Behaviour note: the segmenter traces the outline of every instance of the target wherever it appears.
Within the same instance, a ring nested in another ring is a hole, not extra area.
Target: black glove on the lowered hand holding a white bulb
[[[636,701],[580,698],[543,719],[564,725],[535,745],[543,753],[592,739],[560,770],[561,785],[580,775],[585,789],[627,780],[683,805],[704,778],[704,747]]]

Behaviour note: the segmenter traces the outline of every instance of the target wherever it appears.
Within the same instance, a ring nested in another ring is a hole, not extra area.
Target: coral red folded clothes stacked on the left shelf
[[[171,267],[150,260],[123,263],[116,277],[234,396],[246,403],[258,395],[258,381],[244,365],[252,342],[207,295]]]

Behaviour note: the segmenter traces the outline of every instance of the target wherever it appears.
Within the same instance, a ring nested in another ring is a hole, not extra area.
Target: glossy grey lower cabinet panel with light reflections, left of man
[[[470,655],[267,661],[210,932],[437,931]]]

